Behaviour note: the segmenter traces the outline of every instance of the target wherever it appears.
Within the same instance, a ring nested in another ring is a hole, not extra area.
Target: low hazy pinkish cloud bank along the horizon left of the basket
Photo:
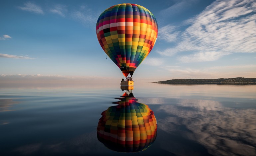
[[[103,80],[103,81],[102,81]],[[80,86],[100,88],[102,85],[113,86],[119,78],[99,76],[61,76],[61,75],[0,75],[1,87],[56,87],[56,86]],[[95,85],[97,84],[97,85]],[[102,84],[102,85],[99,85]]]

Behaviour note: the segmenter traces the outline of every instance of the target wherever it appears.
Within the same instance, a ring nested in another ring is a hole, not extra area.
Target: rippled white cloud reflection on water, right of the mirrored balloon
[[[211,100],[181,99],[177,105],[161,105],[158,111],[167,114],[158,119],[159,129],[182,134],[202,144],[210,154],[256,155],[255,109],[224,107]]]

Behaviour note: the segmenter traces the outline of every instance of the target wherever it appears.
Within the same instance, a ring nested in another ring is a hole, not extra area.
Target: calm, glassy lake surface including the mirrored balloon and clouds
[[[256,86],[0,88],[1,156],[123,154],[256,155]]]

